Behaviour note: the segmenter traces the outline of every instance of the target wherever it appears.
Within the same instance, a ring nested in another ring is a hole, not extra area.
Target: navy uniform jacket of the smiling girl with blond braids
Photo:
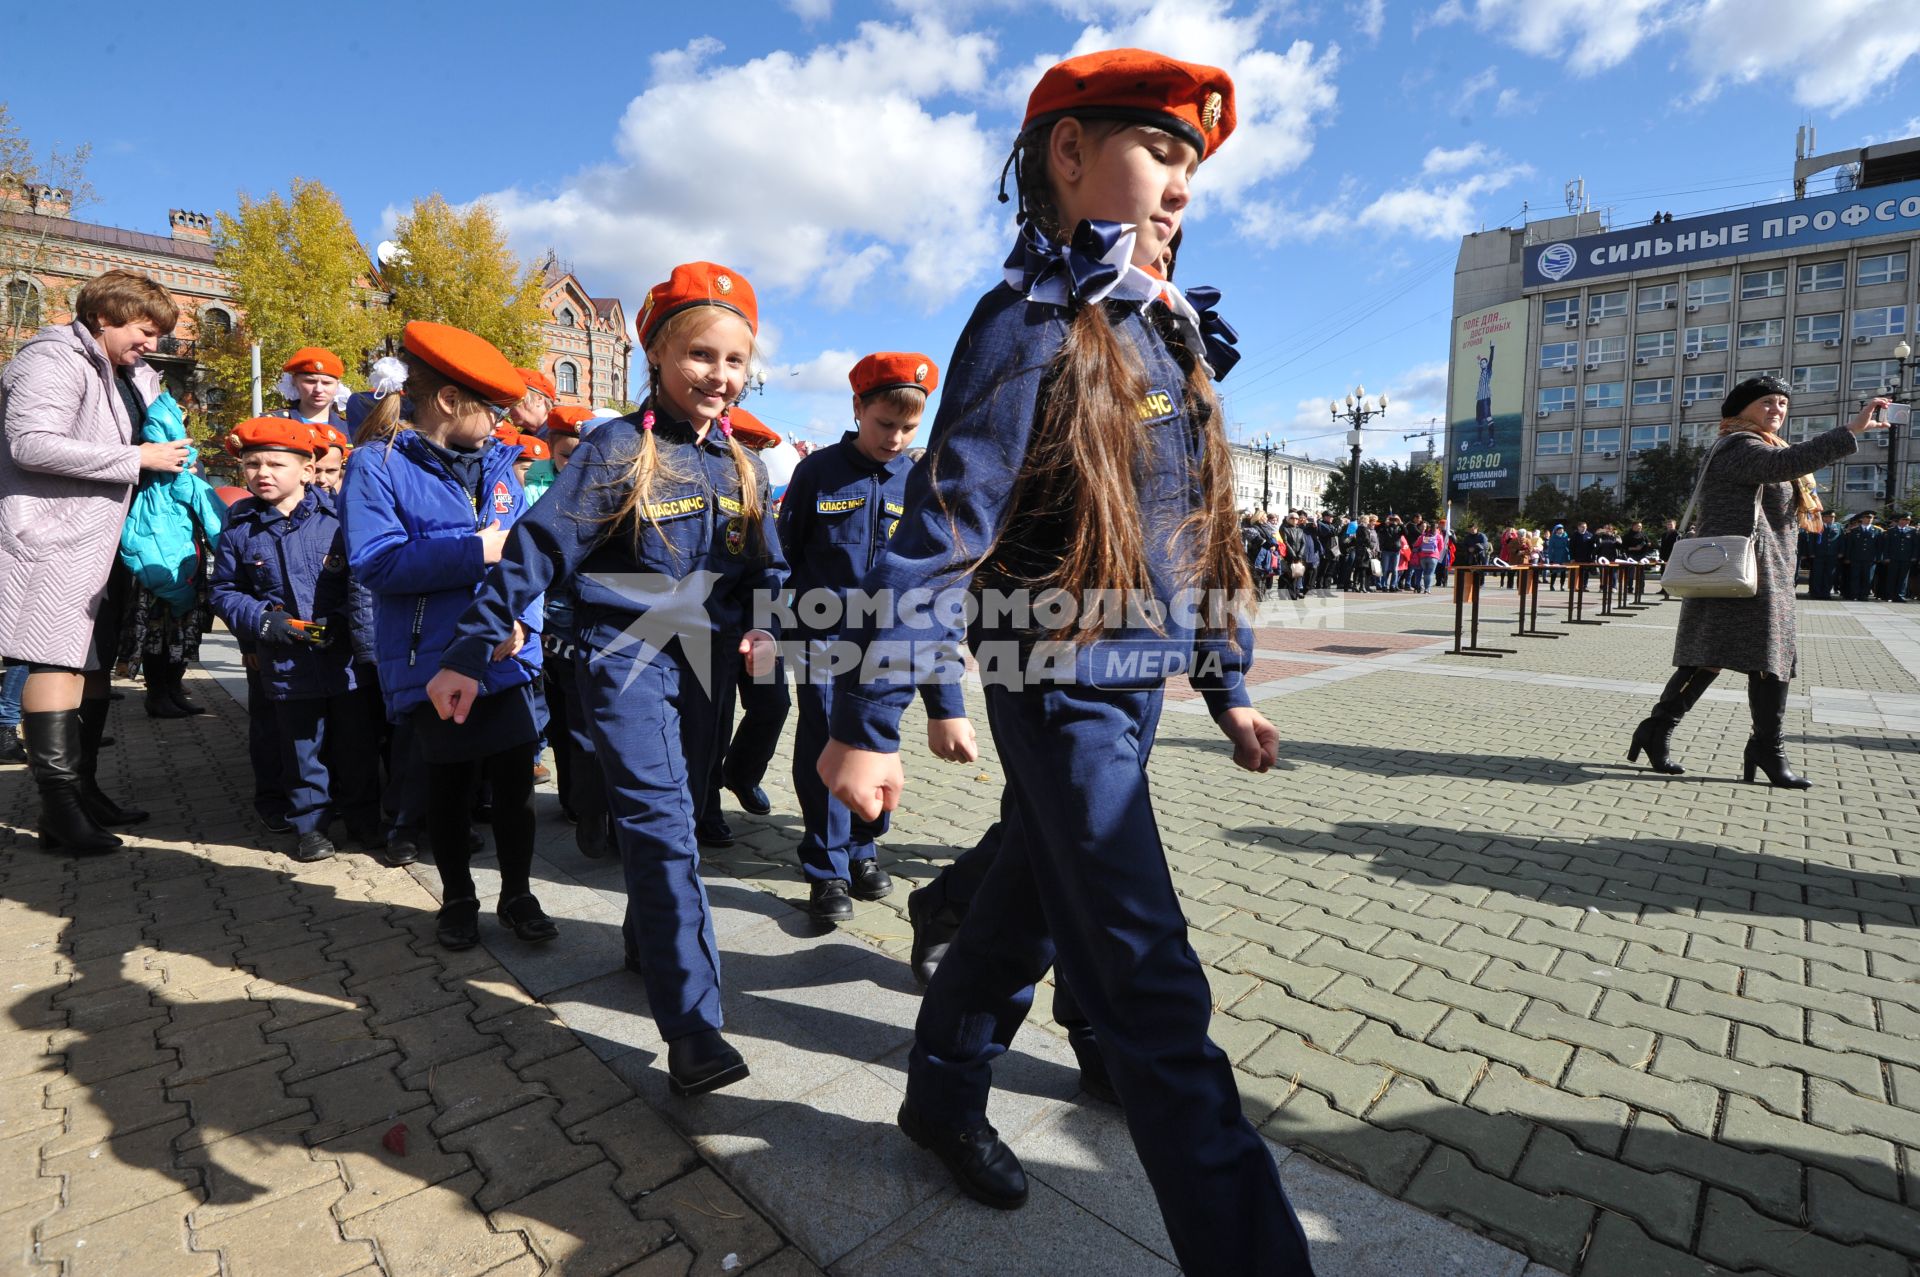
[[[645,409],[641,409],[645,411]],[[657,413],[655,482],[643,518],[618,515],[632,495],[641,447],[641,411],[609,421],[580,442],[547,495],[513,526],[486,590],[459,618],[459,639],[440,664],[472,678],[497,668],[493,645],[511,616],[540,605],[553,582],[572,582],[574,634],[588,651],[632,639],[655,647],[693,634],[739,636],[762,628],[778,638],[768,607],[787,574],[768,511],[766,467],[751,451],[760,509],[749,526],[741,476],[718,430]],[[645,624],[651,618],[653,624]]]

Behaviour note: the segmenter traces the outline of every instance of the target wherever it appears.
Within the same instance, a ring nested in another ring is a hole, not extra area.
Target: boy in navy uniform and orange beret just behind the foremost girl
[[[793,737],[793,787],[806,824],[801,870],[810,883],[808,912],[826,924],[852,918],[849,893],[877,901],[893,891],[874,847],[887,831],[885,812],[877,820],[849,816],[847,805],[820,783],[816,762],[833,716],[828,651],[839,639],[847,593],[879,559],[906,511],[906,474],[914,469],[906,449],[941,374],[925,355],[887,351],[856,363],[847,380],[854,428],[839,444],[808,453],[780,503],[780,547],[787,553],[787,584],[804,641],[797,664],[801,724]],[[933,755],[972,757],[973,726],[960,684],[927,682],[920,691]]]

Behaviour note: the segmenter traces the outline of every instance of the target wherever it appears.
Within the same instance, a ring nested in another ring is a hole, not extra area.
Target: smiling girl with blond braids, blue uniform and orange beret
[[[678,1095],[747,1075],[720,1035],[720,947],[693,822],[712,768],[716,672],[726,659],[772,668],[776,638],[755,613],[772,611],[785,576],[766,467],[732,438],[756,325],[753,288],[726,267],[682,265],[649,290],[637,323],[647,401],[595,428],[515,524],[428,686],[459,722],[499,668],[513,618],[574,580],[574,672],[626,868],[628,966],[647,983]]]

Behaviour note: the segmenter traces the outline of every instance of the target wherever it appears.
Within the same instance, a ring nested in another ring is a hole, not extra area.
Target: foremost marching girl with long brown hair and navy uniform
[[[1225,371],[1231,330],[1194,307],[1198,290],[1146,269],[1233,119],[1223,71],[1142,50],[1073,58],[1041,79],[1012,159],[1020,244],[960,336],[927,461],[864,590],[977,595],[1008,785],[1002,851],[922,1002],[902,1129],[970,1196],[1025,1202],[987,1093],[1056,962],[1181,1267],[1294,1277],[1311,1273],[1306,1239],[1208,1039],[1206,974],[1144,768],[1169,672],[1190,670],[1236,764],[1263,772],[1279,747],[1238,678],[1252,582],[1208,376],[1210,363]],[[1021,616],[1031,590],[1060,591],[1048,597],[1068,611],[1035,603]],[[1137,609],[1116,614],[1094,591],[1131,591]],[[1236,607],[1212,605],[1223,595]],[[956,614],[902,605],[887,624],[849,628],[862,661],[841,676],[820,774],[856,816],[900,791],[912,687],[889,672],[918,663],[920,643],[958,641]]]

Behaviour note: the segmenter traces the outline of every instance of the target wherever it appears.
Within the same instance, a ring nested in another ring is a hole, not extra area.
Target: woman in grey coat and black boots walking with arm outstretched
[[[1655,772],[1680,776],[1668,757],[1674,724],[1693,709],[1720,670],[1747,676],[1747,709],[1753,735],[1747,739],[1745,778],[1766,772],[1784,789],[1807,789],[1812,782],[1795,776],[1782,745],[1788,712],[1788,680],[1793,678],[1793,568],[1799,528],[1818,526],[1820,497],[1814,470],[1847,457],[1859,447],[1855,438],[1885,428],[1876,421],[1885,399],[1872,399],[1851,424],[1788,446],[1780,428],[1788,421],[1791,390],[1772,376],[1755,376],[1734,386],[1720,403],[1720,440],[1707,459],[1701,482],[1699,530],[1682,536],[1753,536],[1759,590],[1751,599],[1686,599],[1680,603],[1680,630],[1674,638],[1674,676],[1667,682],[1653,714],[1634,730],[1628,762],[1647,751]],[[1759,499],[1759,517],[1755,517]]]

